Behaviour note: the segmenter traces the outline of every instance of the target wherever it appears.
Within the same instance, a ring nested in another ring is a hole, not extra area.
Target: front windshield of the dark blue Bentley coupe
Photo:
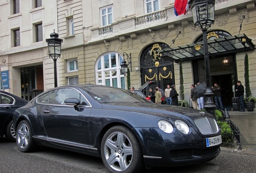
[[[130,91],[119,88],[105,86],[87,86],[83,87],[91,97],[99,103],[149,103],[143,97],[140,97]]]

